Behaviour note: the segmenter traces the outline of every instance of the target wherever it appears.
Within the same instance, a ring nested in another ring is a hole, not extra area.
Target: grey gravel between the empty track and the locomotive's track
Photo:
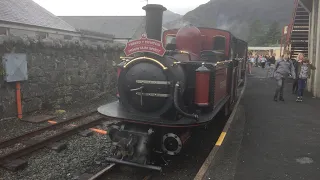
[[[42,149],[25,157],[28,167],[22,171],[0,169],[0,180],[76,180],[83,173],[93,174],[108,165],[104,161],[105,157],[110,156],[111,144],[107,135],[74,135],[61,142],[66,142],[68,146],[60,153]]]

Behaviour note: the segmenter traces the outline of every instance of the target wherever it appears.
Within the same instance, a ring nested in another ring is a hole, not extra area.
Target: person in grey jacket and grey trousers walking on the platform
[[[284,101],[284,98],[283,98],[284,81],[289,76],[289,74],[292,75],[293,79],[296,79],[296,73],[295,73],[292,62],[289,60],[288,54],[285,54],[283,58],[277,61],[275,66],[276,67],[274,71],[274,78],[277,81],[277,88],[276,88],[276,92],[273,97],[273,100],[278,101],[278,96],[280,93],[279,100]]]

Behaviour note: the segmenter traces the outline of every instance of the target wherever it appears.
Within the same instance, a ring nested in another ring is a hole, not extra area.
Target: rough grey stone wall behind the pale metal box
[[[116,73],[123,45],[92,44],[0,36],[4,53],[26,53],[28,80],[21,82],[23,113],[81,105],[115,94]],[[16,116],[15,83],[4,82],[0,59],[0,119]]]

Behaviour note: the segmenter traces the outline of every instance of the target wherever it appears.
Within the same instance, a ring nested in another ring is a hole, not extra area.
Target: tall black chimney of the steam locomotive
[[[167,8],[160,4],[148,4],[142,8],[146,11],[146,33],[150,39],[161,41],[162,16]]]

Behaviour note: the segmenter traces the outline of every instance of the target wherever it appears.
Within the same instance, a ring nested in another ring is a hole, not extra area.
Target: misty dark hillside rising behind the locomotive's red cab
[[[221,28],[247,40],[249,26],[255,20],[264,25],[278,21],[280,27],[290,23],[293,6],[294,0],[211,0],[164,26],[179,28],[191,23]]]

